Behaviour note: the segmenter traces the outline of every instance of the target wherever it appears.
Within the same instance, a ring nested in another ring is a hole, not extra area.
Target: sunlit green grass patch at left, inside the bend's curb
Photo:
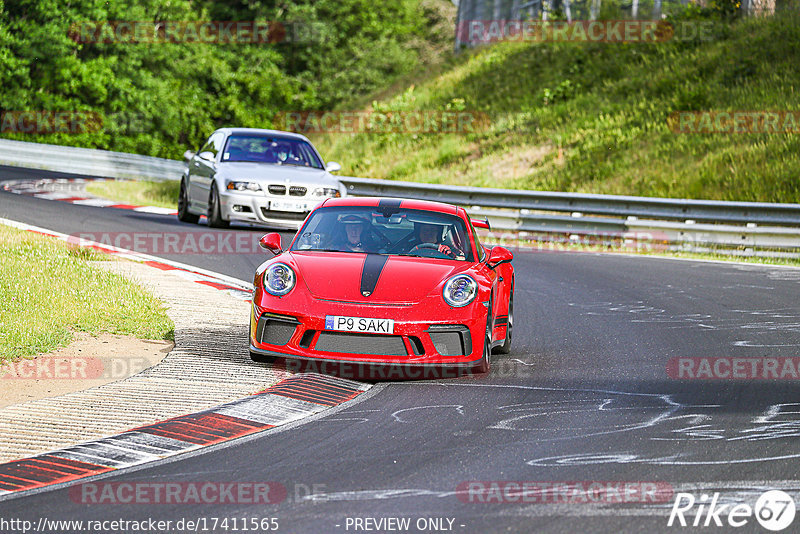
[[[106,259],[0,225],[0,361],[65,346],[73,332],[172,339],[164,305],[138,284],[92,266]]]

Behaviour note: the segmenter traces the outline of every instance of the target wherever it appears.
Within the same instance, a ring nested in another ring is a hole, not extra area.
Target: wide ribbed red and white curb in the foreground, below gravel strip
[[[370,387],[342,378],[302,373],[211,410],[0,464],[0,499],[263,432],[350,401]]]

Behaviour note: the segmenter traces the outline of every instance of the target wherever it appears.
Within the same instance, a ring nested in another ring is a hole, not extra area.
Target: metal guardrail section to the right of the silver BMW
[[[487,217],[492,228],[540,243],[632,241],[684,251],[800,258],[800,204],[517,191],[341,177],[350,194],[437,200]],[[566,215],[565,215],[566,214]],[[735,225],[732,223],[739,223]],[[564,241],[562,239],[562,241]]]

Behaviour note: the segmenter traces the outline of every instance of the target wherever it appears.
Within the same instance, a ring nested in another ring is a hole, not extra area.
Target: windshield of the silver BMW
[[[309,143],[302,139],[279,136],[232,135],[225,143],[222,161],[322,168],[322,162]]]

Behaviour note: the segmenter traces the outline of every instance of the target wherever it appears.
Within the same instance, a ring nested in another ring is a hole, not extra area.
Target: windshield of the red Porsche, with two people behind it
[[[475,261],[464,221],[435,211],[337,206],[315,211],[293,251],[394,254]]]

